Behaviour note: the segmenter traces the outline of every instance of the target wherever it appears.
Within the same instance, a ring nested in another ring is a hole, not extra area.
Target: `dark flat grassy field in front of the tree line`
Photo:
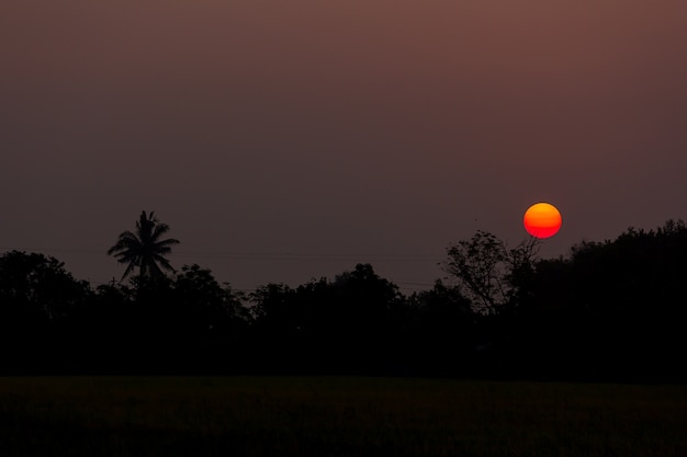
[[[687,386],[0,378],[9,456],[685,456]]]

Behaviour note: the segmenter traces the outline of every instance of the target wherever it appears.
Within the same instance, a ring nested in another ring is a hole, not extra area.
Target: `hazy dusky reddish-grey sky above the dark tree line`
[[[7,0],[0,252],[106,283],[154,210],[235,288],[409,293],[549,202],[567,255],[687,219],[686,56],[683,0]]]

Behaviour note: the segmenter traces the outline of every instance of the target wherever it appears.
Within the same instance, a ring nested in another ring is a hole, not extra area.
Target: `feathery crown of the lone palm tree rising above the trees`
[[[169,254],[171,247],[178,244],[179,240],[160,240],[168,231],[169,226],[157,220],[154,212],[149,216],[142,212],[136,222],[136,232],[127,230],[120,233],[116,244],[108,250],[108,255],[114,255],[120,263],[128,263],[121,281],[135,267],[139,269],[140,276],[147,277],[162,276],[162,269],[174,272],[165,254]]]

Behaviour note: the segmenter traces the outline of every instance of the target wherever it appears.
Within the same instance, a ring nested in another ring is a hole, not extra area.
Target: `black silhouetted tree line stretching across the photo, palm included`
[[[477,231],[437,279],[404,295],[358,264],[251,293],[198,264],[142,213],[92,287],[41,253],[0,256],[2,374],[337,374],[685,381],[687,227],[668,220],[540,259]]]

